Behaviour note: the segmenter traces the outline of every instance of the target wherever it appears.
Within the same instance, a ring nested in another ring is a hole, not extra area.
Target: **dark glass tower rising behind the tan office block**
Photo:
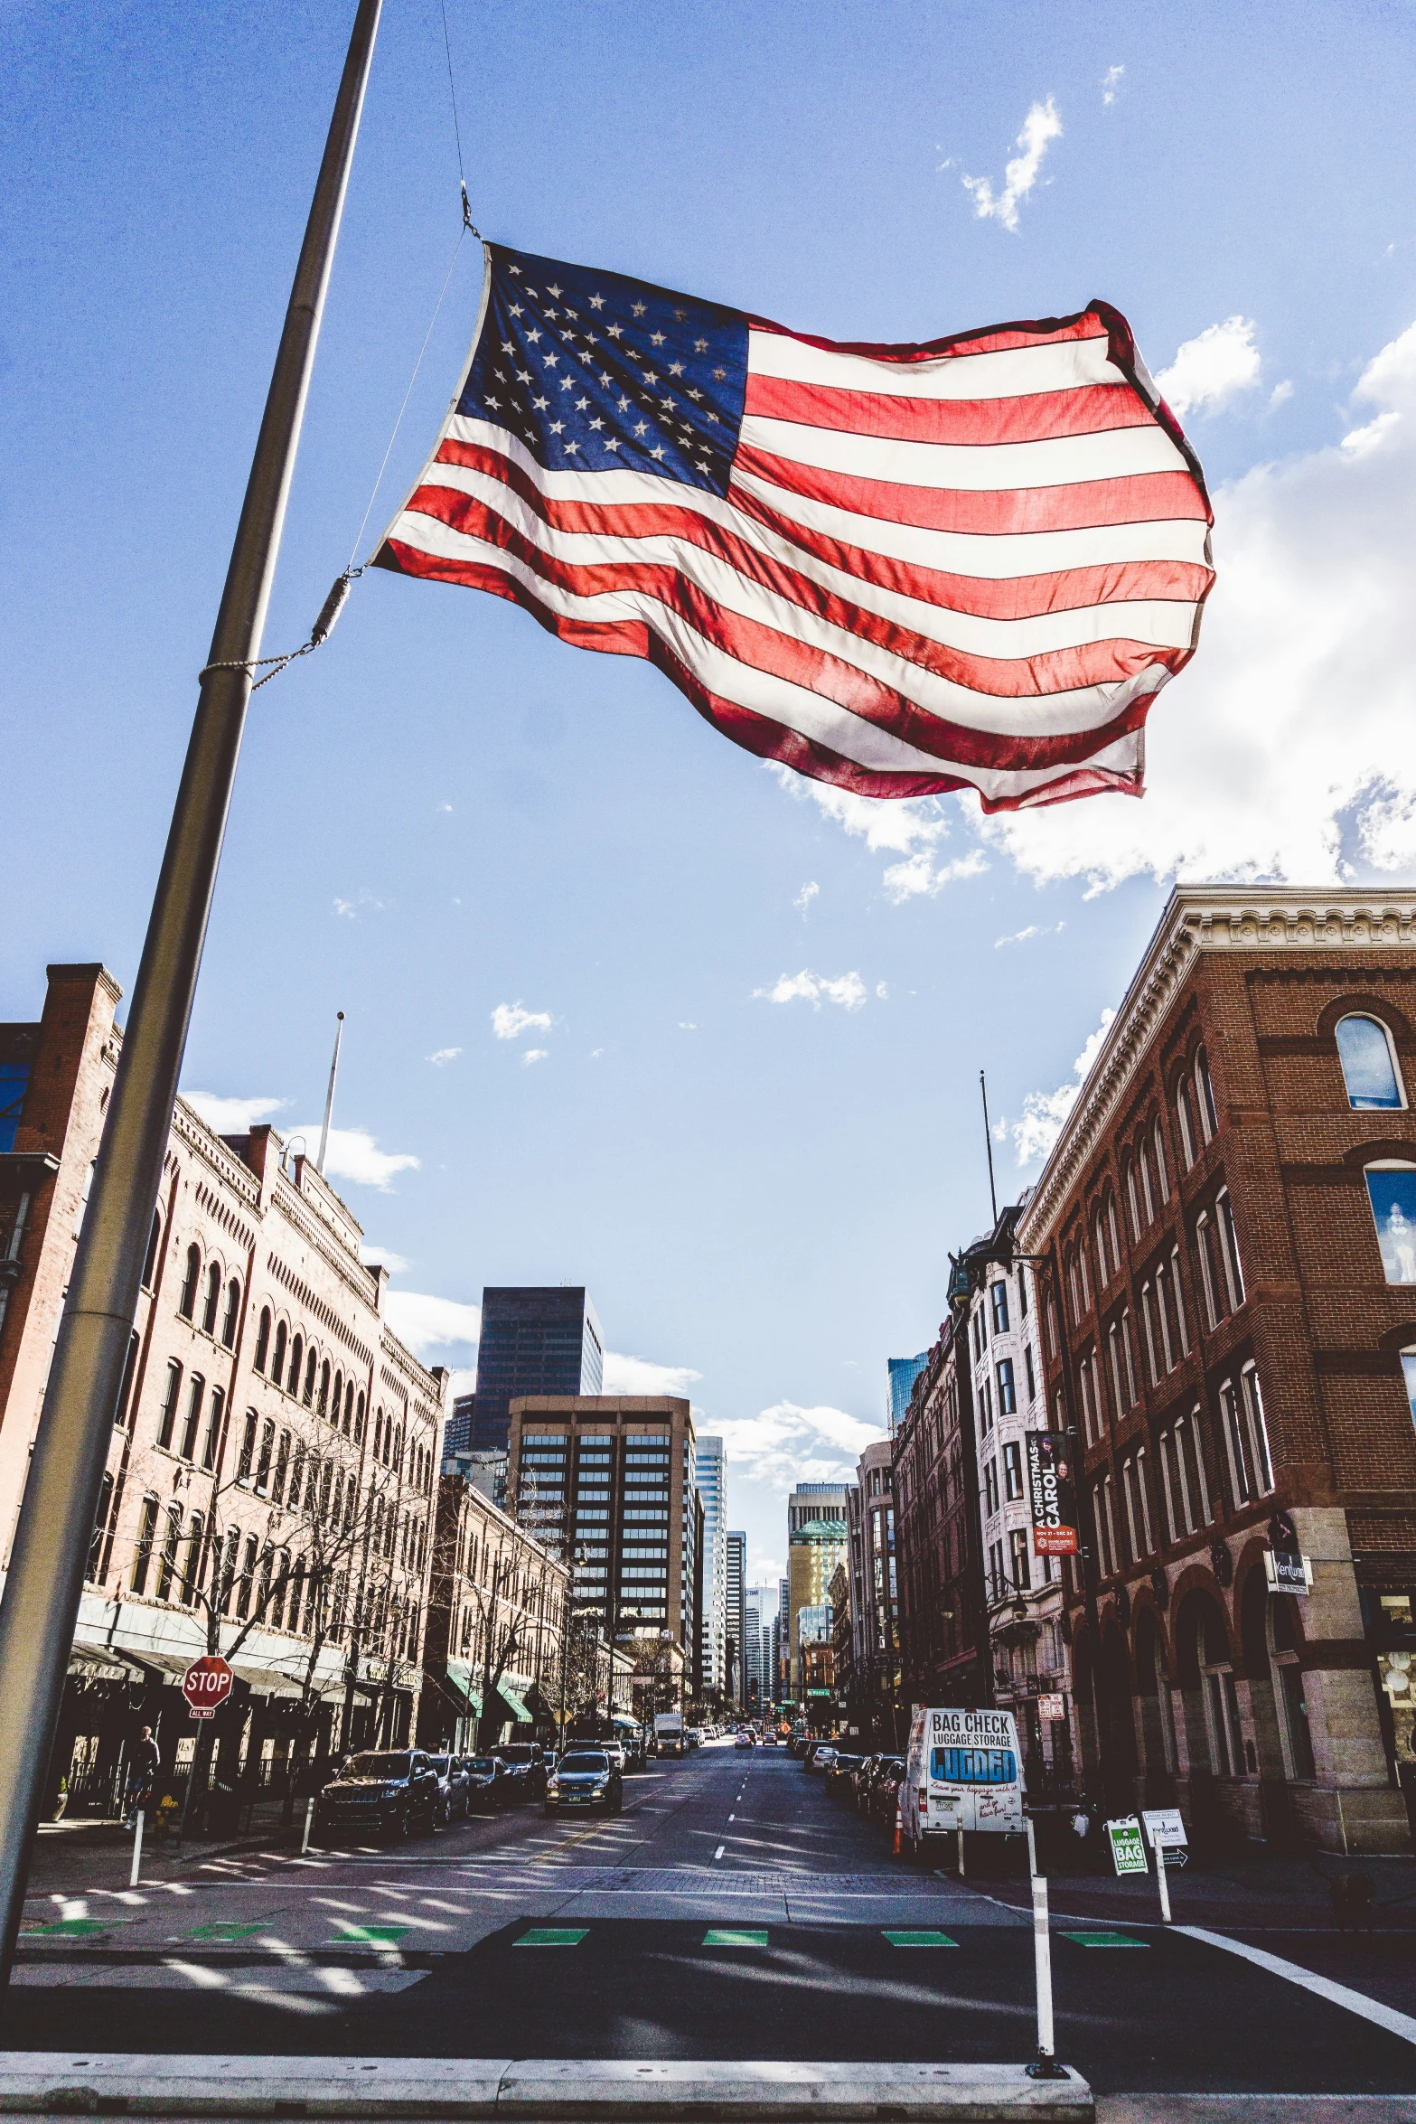
[[[582,1285],[484,1289],[478,1391],[459,1395],[459,1410],[465,1400],[473,1404],[459,1451],[505,1451],[518,1393],[599,1393],[603,1385],[601,1323]]]

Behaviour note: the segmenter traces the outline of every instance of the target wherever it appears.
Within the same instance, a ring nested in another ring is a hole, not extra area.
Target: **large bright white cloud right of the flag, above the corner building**
[[[1151,714],[1149,794],[985,820],[1023,873],[1102,892],[1416,867],[1416,325],[1357,404],[1374,418],[1344,444],[1219,489],[1219,582],[1193,665]]]

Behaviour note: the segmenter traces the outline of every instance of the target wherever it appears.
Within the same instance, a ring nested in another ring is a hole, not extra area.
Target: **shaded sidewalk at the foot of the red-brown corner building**
[[[1253,1846],[1223,1856],[1191,1854],[1185,1867],[1168,1867],[1165,1880],[1176,1924],[1331,1933],[1340,1931],[1333,1884],[1352,1873],[1371,1882],[1374,1931],[1416,1931],[1416,1856],[1344,1858],[1340,1852],[1272,1852]],[[1032,1907],[1025,1880],[972,1878],[968,1886],[1013,1909]],[[1108,1873],[1051,1871],[1047,1890],[1053,1918],[1159,1924],[1155,1871],[1121,1880]]]

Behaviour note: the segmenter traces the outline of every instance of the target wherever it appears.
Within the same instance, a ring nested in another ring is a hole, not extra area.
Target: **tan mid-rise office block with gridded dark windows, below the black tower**
[[[573,1565],[571,1608],[607,1635],[669,1638],[694,1669],[694,1421],[677,1395],[516,1395],[512,1517]]]

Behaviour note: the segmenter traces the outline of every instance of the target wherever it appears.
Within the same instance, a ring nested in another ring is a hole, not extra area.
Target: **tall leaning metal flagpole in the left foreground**
[[[0,1982],[8,1982],[83,1572],[138,1308],[176,1079],[202,964],[251,665],[280,548],[380,0],[359,0],[280,350],[236,527],[210,663],[134,983],[89,1209],[0,1604]]]

